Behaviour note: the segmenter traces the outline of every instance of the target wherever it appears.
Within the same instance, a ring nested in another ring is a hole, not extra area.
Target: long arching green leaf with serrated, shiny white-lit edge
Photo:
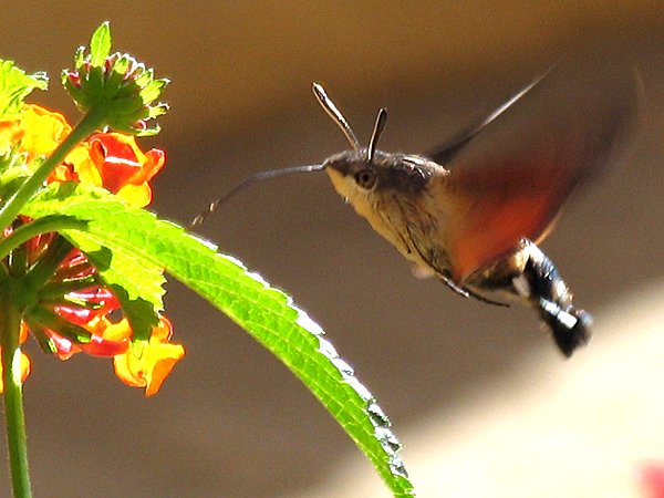
[[[181,227],[104,193],[82,185],[51,185],[23,214],[39,218],[56,212],[87,220],[87,231],[63,234],[75,245],[87,247],[94,240],[107,248],[113,255],[111,267],[113,259],[131,255],[148,269],[166,269],[281,360],[364,452],[395,496],[413,495],[388,418],[322,329],[289,295]],[[115,267],[122,271],[120,264]],[[141,274],[131,277],[141,280]]]

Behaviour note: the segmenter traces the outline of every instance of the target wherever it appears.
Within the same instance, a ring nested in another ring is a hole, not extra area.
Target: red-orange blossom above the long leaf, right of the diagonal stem
[[[152,200],[148,181],[165,160],[164,152],[156,148],[144,154],[133,136],[97,133],[68,155],[65,164],[51,175],[51,181],[104,187],[131,206],[145,207]]]

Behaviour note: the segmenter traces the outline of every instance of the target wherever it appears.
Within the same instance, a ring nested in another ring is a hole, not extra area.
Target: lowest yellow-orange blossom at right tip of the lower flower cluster
[[[129,350],[113,359],[115,375],[125,384],[145,387],[146,396],[156,394],[175,364],[185,355],[180,344],[168,342],[172,331],[170,322],[162,317],[147,344],[139,344],[141,351]]]

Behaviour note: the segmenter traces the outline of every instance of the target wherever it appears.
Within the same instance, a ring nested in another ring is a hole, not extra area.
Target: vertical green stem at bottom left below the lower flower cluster
[[[13,299],[13,282],[2,282],[0,291],[0,346],[2,384],[4,387],[4,423],[7,448],[14,498],[31,497],[28,445],[25,442],[25,417],[23,414],[23,390],[21,381],[21,312]]]

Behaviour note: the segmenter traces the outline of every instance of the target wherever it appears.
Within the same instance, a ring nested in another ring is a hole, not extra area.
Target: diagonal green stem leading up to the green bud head
[[[102,128],[105,120],[105,108],[101,106],[91,108],[83,116],[64,142],[53,151],[53,154],[40,165],[37,172],[34,172],[34,174],[7,200],[2,208],[0,208],[0,234],[9,227],[25,203],[28,203],[28,200],[30,200],[30,198],[41,188],[51,172],[55,169],[55,166],[64,160],[66,155],[76,146],[76,144],[85,139],[90,134]]]

